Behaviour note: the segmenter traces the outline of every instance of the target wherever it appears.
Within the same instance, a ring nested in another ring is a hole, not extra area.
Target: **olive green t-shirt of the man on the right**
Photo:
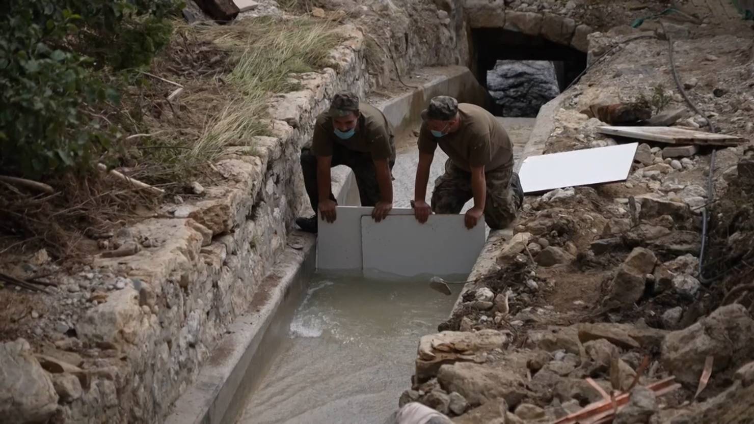
[[[513,145],[503,125],[491,113],[477,105],[458,104],[461,124],[455,133],[437,138],[421,124],[418,148],[423,153],[434,154],[437,145],[452,163],[465,171],[472,166],[484,166],[491,171],[500,166],[513,166]]]

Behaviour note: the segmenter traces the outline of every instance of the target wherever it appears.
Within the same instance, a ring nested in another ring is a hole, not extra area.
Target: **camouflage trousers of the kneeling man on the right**
[[[518,216],[523,203],[523,190],[518,174],[511,166],[501,166],[485,172],[487,196],[484,203],[484,220],[493,230],[507,227]],[[435,213],[461,213],[466,202],[474,197],[471,191],[471,173],[445,163],[445,173],[434,181],[432,211]]]

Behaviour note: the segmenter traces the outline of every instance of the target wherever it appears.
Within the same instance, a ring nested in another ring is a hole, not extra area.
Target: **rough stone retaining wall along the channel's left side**
[[[23,339],[0,343],[0,352],[10,352],[5,360],[23,363],[22,374],[33,375],[39,389],[11,383],[0,411],[14,422],[164,419],[287,246],[306,206],[299,151],[314,118],[336,91],[369,91],[362,35],[349,26],[342,31],[346,41],[333,51],[331,68],[297,76],[302,90],[269,102],[273,136],[229,148],[214,163],[224,178],[204,200],[165,209],[122,234],[151,240],[135,255],[97,257],[93,273],[66,278],[66,292],[85,282],[87,296],[74,300],[80,310],[69,319],[72,331],[48,352],[53,358]],[[14,401],[29,395],[38,396]],[[35,415],[24,417],[29,411]]]

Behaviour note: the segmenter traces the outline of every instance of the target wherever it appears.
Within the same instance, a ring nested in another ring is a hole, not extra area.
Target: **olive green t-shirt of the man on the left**
[[[333,132],[333,119],[329,111],[317,117],[314,124],[314,138],[311,151],[314,156],[332,156],[333,143],[345,148],[372,154],[372,160],[394,160],[395,142],[390,123],[378,108],[368,103],[359,103],[359,117],[356,133],[350,139],[339,139]]]

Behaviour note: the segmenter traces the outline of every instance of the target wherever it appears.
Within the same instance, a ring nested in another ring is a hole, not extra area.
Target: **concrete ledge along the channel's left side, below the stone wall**
[[[419,113],[434,96],[455,96],[461,102],[486,105],[491,97],[464,66],[449,66],[448,72],[415,90],[388,99],[376,105],[385,113],[396,133],[409,130],[418,121]],[[333,191],[343,204],[348,191],[355,187],[350,169],[334,172],[341,178]],[[335,180],[335,178],[333,178]],[[300,246],[287,247],[273,270],[265,278],[264,290],[259,293],[261,305],[253,313],[241,315],[219,340],[198,377],[173,404],[165,424],[228,424],[224,420],[238,411],[242,405],[233,404],[236,392],[247,375],[259,343],[275,319],[277,310],[290,288],[302,278],[314,273],[316,238],[308,234],[300,236]],[[252,304],[257,300],[255,294]]]

